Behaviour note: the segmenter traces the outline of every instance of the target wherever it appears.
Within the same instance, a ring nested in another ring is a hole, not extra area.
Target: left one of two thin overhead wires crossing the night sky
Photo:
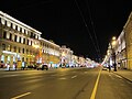
[[[80,15],[81,15],[81,19],[82,19],[82,21],[84,21],[84,23],[85,23],[85,26],[86,26],[86,29],[87,29],[87,31],[88,31],[88,34],[89,34],[89,36],[90,36],[90,38],[91,38],[91,42],[92,42],[92,44],[94,44],[94,47],[95,47],[95,50],[96,50],[96,52],[97,52],[97,54],[98,54],[98,48],[96,47],[96,44],[95,44],[94,38],[92,38],[91,34],[90,34],[90,31],[89,31],[89,29],[88,29],[88,26],[87,26],[87,23],[86,23],[86,21],[85,21],[85,18],[84,18],[84,15],[82,15],[82,12],[81,12],[81,10],[80,10],[80,8],[79,8],[79,6],[78,6],[78,3],[77,3],[76,0],[75,0],[75,2],[76,2],[76,6],[77,6],[77,8],[78,8],[78,10],[79,10],[79,13],[80,13]]]

